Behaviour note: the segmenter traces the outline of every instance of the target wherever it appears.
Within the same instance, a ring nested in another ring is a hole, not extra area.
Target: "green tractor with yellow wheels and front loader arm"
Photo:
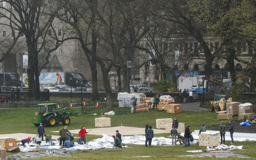
[[[60,121],[63,125],[69,125],[70,116],[79,116],[77,109],[59,107],[59,105],[56,106],[56,103],[42,103],[38,104],[38,107],[38,112],[31,116],[32,123],[36,127],[38,127],[40,123],[45,124],[46,127],[54,127],[59,124]]]

